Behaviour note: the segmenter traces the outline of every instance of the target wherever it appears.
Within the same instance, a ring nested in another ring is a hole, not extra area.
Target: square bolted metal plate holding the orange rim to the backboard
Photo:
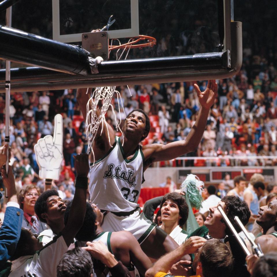
[[[82,48],[90,52],[92,58],[102,57],[104,61],[109,58],[108,33],[93,32],[82,34]]]

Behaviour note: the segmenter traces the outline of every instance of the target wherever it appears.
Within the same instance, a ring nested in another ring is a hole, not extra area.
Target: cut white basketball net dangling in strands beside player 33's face
[[[120,44],[120,41],[119,40],[117,40],[117,41]],[[129,42],[130,41],[131,41],[131,39],[129,40]],[[111,44],[113,44],[113,41],[111,42]],[[128,47],[128,46],[126,46],[123,49],[123,51],[122,51],[122,53],[119,57],[118,57],[118,55],[119,55],[119,50],[120,49],[117,50],[116,59],[117,60],[121,59],[124,51],[127,50],[127,49],[128,49],[128,51],[127,51],[126,56],[125,56],[125,60],[126,60],[128,54],[129,54],[129,51],[130,51],[130,47]],[[107,122],[106,122],[106,119],[105,119],[105,114],[106,114],[109,106],[111,106],[111,109],[113,111],[113,115],[115,116],[116,130],[120,131],[122,133],[122,131],[119,127],[119,125],[121,124],[121,118],[120,118],[119,122],[117,122],[115,111],[114,111],[113,105],[111,104],[113,94],[116,93],[117,103],[118,103],[119,107],[120,107],[120,104],[123,107],[123,102],[122,102],[122,99],[121,99],[121,95],[120,95],[119,91],[117,91],[115,89],[116,89],[115,86],[114,87],[97,87],[93,91],[91,98],[87,102],[87,117],[86,117],[86,136],[87,136],[87,141],[88,141],[87,154],[92,152],[93,164],[95,163],[95,156],[94,156],[94,153],[93,153],[92,145],[93,145],[94,139],[96,137],[96,133],[97,133],[97,130],[99,128],[100,123],[102,123],[101,135],[102,135],[102,132],[103,132],[104,125],[105,125],[105,128],[107,128],[107,132],[108,132],[108,125],[107,125]],[[128,87],[128,89],[129,89],[129,87]],[[89,91],[89,88],[87,89],[87,93],[88,93],[88,91]],[[130,91],[130,89],[129,89],[129,91]],[[131,95],[131,92],[130,92],[130,95]],[[119,102],[119,98],[120,98],[120,102]],[[102,101],[102,107],[101,108],[98,108],[99,101]],[[97,115],[96,111],[99,111],[100,116]],[[123,107],[123,112],[124,112],[124,115],[125,115],[125,118],[126,118],[124,107]],[[109,134],[109,132],[108,132],[108,134]],[[109,139],[109,144],[112,147],[109,135],[108,135],[108,139]],[[124,143],[124,141],[123,141],[123,143]]]

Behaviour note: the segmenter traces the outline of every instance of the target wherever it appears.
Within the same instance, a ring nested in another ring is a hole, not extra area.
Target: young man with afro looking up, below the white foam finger
[[[40,221],[47,224],[47,229],[38,235],[43,246],[52,241],[64,228],[63,215],[66,205],[57,190],[46,190],[35,203],[35,213]]]

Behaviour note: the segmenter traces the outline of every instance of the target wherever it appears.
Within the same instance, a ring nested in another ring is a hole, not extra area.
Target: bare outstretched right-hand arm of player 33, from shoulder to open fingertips
[[[194,84],[194,87],[197,91],[201,109],[186,140],[168,143],[167,145],[145,145],[143,147],[145,160],[148,158],[152,162],[171,160],[192,152],[198,147],[207,124],[209,109],[214,104],[217,95],[217,83],[215,80],[208,81],[207,88],[203,92],[200,91],[198,85]]]

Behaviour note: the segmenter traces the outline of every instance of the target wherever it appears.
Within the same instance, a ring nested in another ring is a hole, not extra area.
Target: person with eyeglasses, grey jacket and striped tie
[[[33,234],[39,234],[47,229],[46,224],[41,222],[35,214],[34,207],[38,196],[40,196],[40,190],[33,184],[23,186],[18,196],[18,204],[24,212],[22,227],[29,228]]]

